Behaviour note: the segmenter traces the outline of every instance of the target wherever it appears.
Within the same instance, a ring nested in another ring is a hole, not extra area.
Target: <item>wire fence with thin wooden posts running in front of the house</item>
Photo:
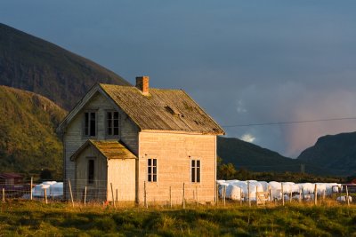
[[[32,180],[32,179],[31,179]],[[127,188],[129,187],[129,188]],[[113,184],[106,180],[95,180],[88,184],[87,180],[66,180],[64,182],[46,181],[41,184],[20,183],[0,185],[2,201],[12,199],[37,200],[45,203],[53,201],[70,201],[75,205],[104,204],[118,207],[121,204],[139,204],[146,208],[166,205],[217,205],[225,206],[227,202],[236,205],[266,205],[268,203],[285,205],[288,202],[314,203],[324,201],[352,204],[356,199],[356,185],[345,184],[333,186],[331,192],[320,191],[318,184],[314,190],[303,189],[290,191],[286,186],[280,188],[257,189],[256,186],[234,188],[227,185],[200,186],[191,183],[160,186],[143,181],[138,188],[130,184]]]

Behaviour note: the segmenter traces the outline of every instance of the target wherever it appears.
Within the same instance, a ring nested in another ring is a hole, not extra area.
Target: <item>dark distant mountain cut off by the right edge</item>
[[[356,132],[328,135],[304,150],[297,158],[300,162],[318,164],[333,175],[356,174]]]

